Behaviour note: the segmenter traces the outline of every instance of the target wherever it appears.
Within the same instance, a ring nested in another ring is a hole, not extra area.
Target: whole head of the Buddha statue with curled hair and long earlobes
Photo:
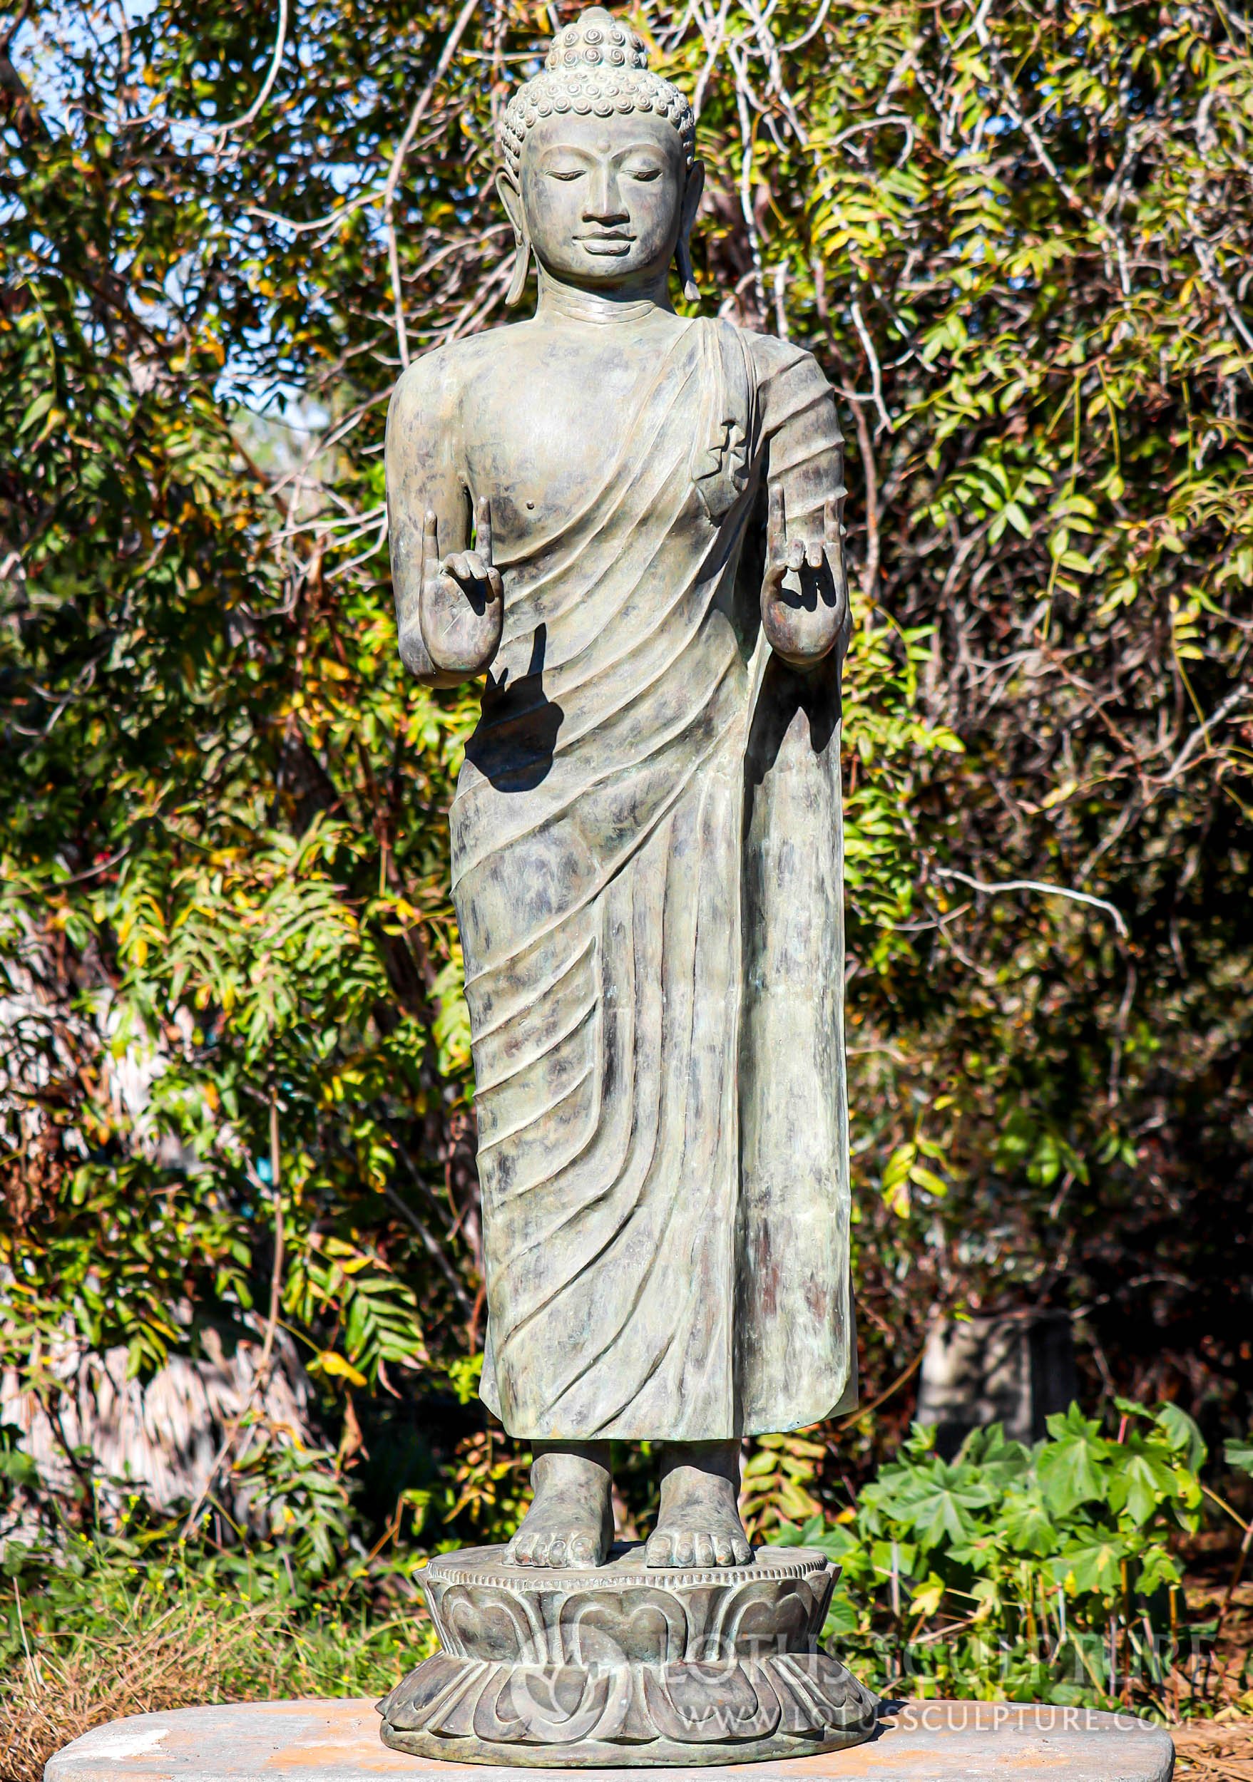
[[[586,7],[556,34],[544,73],[510,100],[499,135],[499,191],[519,244],[510,303],[522,296],[531,249],[561,283],[604,292],[665,289],[677,251],[695,296],[688,232],[704,185],[695,118],[647,61],[627,25]]]

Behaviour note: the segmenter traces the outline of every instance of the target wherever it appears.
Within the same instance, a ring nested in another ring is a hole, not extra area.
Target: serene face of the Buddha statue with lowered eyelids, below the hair
[[[665,278],[699,196],[674,125],[651,112],[542,118],[526,134],[520,200],[545,271],[592,289]]]

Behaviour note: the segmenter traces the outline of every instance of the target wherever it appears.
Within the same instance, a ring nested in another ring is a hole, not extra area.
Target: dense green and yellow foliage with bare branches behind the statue
[[[474,699],[401,672],[380,453],[401,362],[504,321],[494,119],[569,11],[30,0],[0,34],[0,1363],[55,1413],[84,1354],[285,1331],[317,1442],[253,1408],[223,1470],[314,1572],[522,1490],[472,1399]],[[934,1310],[1055,1304],[1093,1404],[1241,1435],[1249,27],[633,18],[699,103],[702,308],[811,347],[848,417],[866,1399]],[[761,1525],[847,1504],[909,1402],[763,1449]],[[89,1529],[66,1449],[36,1508]]]

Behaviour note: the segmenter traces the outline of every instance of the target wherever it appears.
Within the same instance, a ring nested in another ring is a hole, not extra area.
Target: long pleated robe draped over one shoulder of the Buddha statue
[[[822,536],[834,401],[695,321],[581,511],[504,572],[453,804],[483,1399],[531,1440],[852,1402],[836,654],[759,629],[768,483]]]

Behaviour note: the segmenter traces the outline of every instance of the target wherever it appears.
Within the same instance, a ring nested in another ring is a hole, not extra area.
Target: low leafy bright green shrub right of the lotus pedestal
[[[880,1689],[1160,1714],[1194,1705],[1173,1538],[1200,1527],[1205,1443],[1173,1404],[1071,1406],[1034,1447],[998,1424],[952,1461],[914,1426],[834,1524],[784,1527],[839,1566],[825,1636]]]

